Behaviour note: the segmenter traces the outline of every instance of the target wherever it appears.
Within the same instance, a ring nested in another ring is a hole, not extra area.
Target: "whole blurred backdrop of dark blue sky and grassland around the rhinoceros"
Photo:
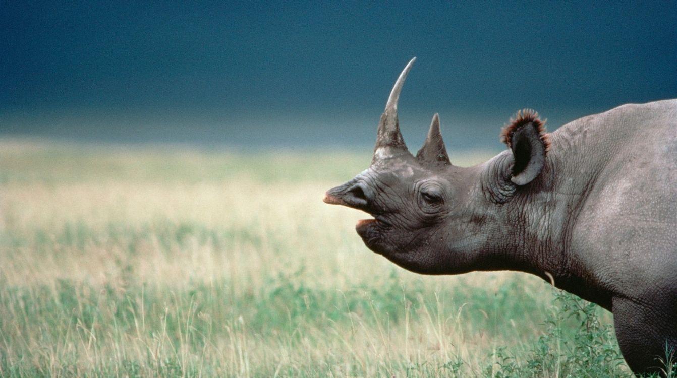
[[[399,72],[452,162],[677,97],[677,2],[0,1],[0,377],[632,377],[611,314],[422,276],[324,191]],[[677,369],[674,369],[677,371]]]

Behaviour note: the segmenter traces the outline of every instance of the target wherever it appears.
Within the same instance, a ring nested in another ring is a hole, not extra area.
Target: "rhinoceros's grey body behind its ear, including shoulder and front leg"
[[[612,311],[630,367],[655,371],[666,341],[677,346],[677,100],[622,105],[551,135],[544,233],[571,224],[553,248],[566,256],[562,287]]]

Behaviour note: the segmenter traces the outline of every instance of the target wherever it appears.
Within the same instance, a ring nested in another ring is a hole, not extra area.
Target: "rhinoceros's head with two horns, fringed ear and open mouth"
[[[477,266],[481,258],[496,248],[492,240],[498,237],[502,204],[544,165],[542,125],[533,123],[532,113],[519,114],[503,133],[512,154],[460,168],[450,163],[435,114],[413,156],[399,131],[397,100],[415,59],[397,78],[380,117],[372,164],[327,191],[324,202],[372,215],[357,222],[357,233],[370,250],[403,268],[428,274],[483,268]]]

